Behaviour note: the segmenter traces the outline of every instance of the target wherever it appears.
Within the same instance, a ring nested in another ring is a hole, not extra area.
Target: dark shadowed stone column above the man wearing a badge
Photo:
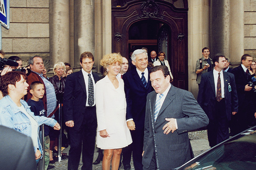
[[[211,0],[211,57],[230,56],[230,0]]]

